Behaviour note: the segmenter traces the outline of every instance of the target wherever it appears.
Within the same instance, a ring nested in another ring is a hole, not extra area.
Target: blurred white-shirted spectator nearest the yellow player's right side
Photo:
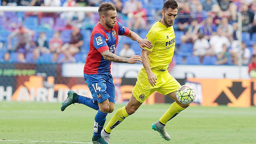
[[[194,42],[193,55],[199,56],[202,63],[203,57],[205,55],[210,55],[211,53],[212,51],[208,40],[204,38],[203,34],[199,34],[198,39]]]

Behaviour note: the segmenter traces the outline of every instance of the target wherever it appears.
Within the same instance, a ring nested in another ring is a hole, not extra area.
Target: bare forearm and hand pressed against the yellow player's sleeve
[[[139,43],[139,47],[143,50],[146,50],[146,49],[144,49],[144,47],[151,49],[153,46],[149,40],[142,39],[141,37],[139,37],[138,34],[136,34],[135,32],[133,32],[131,30],[126,37],[130,37],[131,40],[137,41]]]

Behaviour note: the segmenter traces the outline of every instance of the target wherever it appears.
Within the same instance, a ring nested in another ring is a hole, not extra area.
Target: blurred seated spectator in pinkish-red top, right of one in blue
[[[60,53],[62,45],[63,45],[63,42],[62,42],[62,39],[60,38],[60,33],[57,31],[54,32],[53,37],[50,39],[50,42],[49,42],[50,52]]]

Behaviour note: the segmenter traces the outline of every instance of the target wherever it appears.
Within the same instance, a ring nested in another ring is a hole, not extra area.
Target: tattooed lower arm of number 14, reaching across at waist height
[[[119,57],[118,55],[109,52],[109,50],[105,50],[104,52],[101,52],[101,55],[105,60],[113,61],[116,63],[140,63],[139,61],[142,62],[142,58],[139,55],[133,55],[130,58],[125,58],[125,57]]]

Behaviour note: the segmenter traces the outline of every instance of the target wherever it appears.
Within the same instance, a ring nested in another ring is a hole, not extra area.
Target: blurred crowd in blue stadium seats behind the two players
[[[164,0],[2,0],[2,5],[99,6],[102,2],[115,5],[118,21],[144,37],[151,25],[161,18],[159,11]],[[205,57],[211,57],[215,65],[238,65],[239,55],[242,55],[242,63],[247,65],[256,54],[256,0],[177,0],[177,3],[178,17],[173,25],[176,63],[186,64],[186,57],[195,57],[199,62],[194,64],[207,64]],[[242,14],[242,36],[238,32],[237,11]],[[22,15],[13,12],[13,15],[12,18],[11,13],[0,12],[0,32],[10,32],[6,40],[1,40],[4,43],[0,48],[4,52],[0,55],[2,62],[38,63],[49,57],[47,62],[53,63],[85,61],[90,31],[99,21],[97,13],[71,11]],[[26,24],[27,19],[35,17],[36,27]],[[242,49],[239,48],[240,37]],[[182,55],[180,48],[185,44],[192,45],[188,50],[191,52]],[[130,57],[139,54],[138,49],[138,45],[122,42],[121,38],[117,54]],[[16,59],[12,60],[13,57]],[[182,61],[178,61],[178,57],[182,57]]]

